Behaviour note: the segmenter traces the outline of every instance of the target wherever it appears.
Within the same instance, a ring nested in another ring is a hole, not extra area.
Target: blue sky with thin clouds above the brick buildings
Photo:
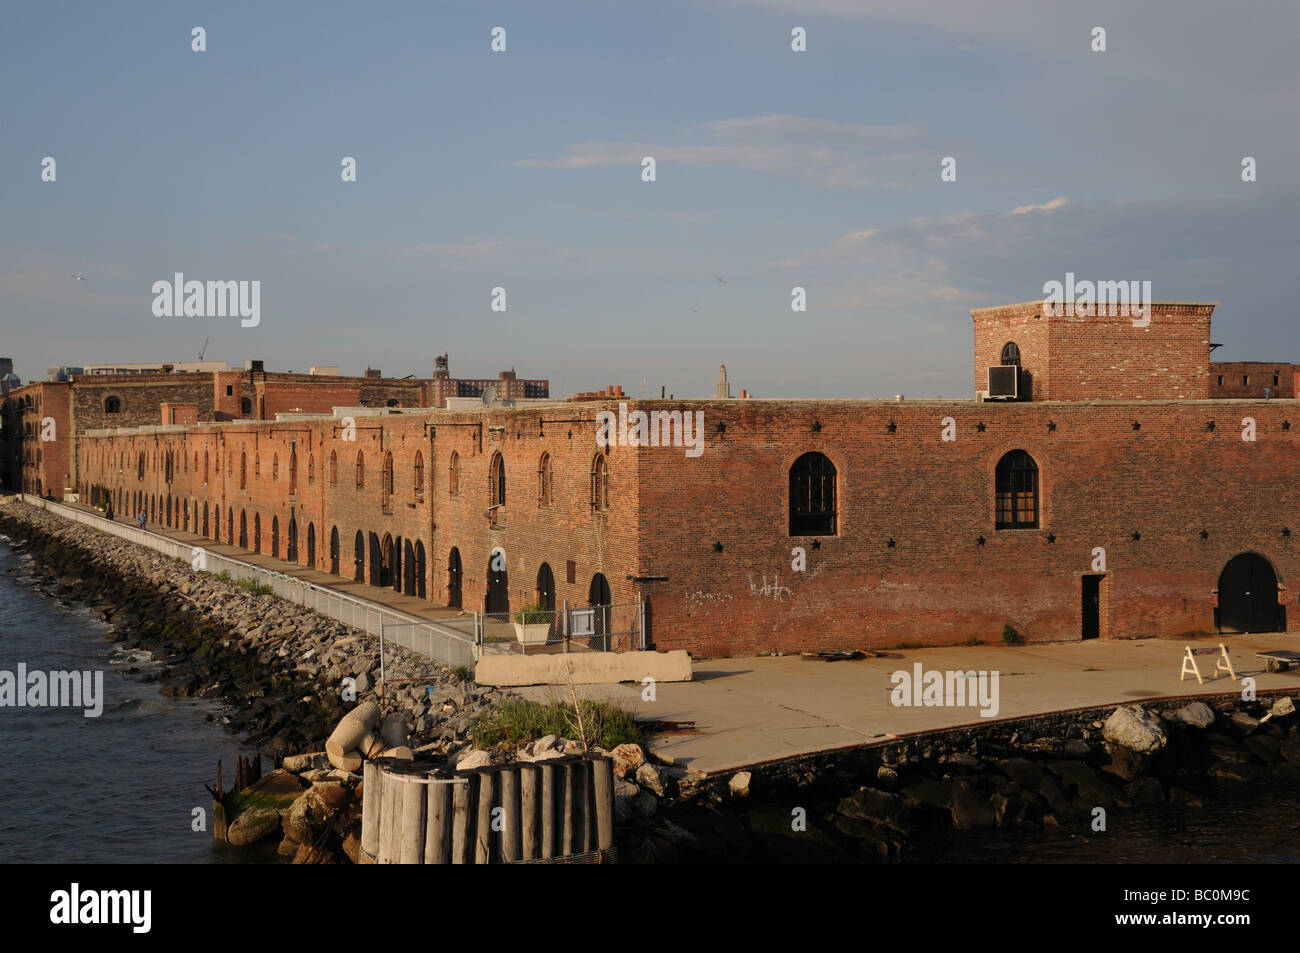
[[[1072,270],[1300,360],[1300,7],[1136,7],[10,5],[0,354],[958,397],[970,309]],[[155,317],[174,272],[261,281],[260,325]]]

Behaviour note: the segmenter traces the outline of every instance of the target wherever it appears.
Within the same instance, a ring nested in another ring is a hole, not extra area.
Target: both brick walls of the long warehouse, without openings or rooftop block
[[[278,517],[283,555],[292,512],[299,562],[312,524],[316,564],[328,568],[329,530],[338,527],[346,577],[358,529],[367,540],[372,532],[419,540],[428,554],[426,595],[437,602],[446,597],[447,555],[456,546],[467,610],[482,606],[490,553],[502,546],[511,608],[533,601],[542,562],[554,573],[556,605],[588,605],[599,572],[614,602],[638,593],[649,599],[658,647],[705,655],[996,642],[1006,624],[1031,641],[1079,638],[1080,580],[1092,572],[1096,546],[1106,550],[1102,634],[1110,637],[1210,631],[1212,590],[1238,553],[1265,555],[1283,584],[1294,585],[1300,569],[1295,537],[1282,534],[1300,528],[1300,411],[1283,402],[628,403],[702,410],[707,449],[690,458],[682,447],[612,447],[607,514],[590,506],[595,412],[618,410],[618,402],[358,417],[352,441],[341,421],[315,420],[96,436],[82,443],[90,482],[216,503],[222,540],[231,508],[237,536],[240,511],[250,533],[254,514],[261,514],[261,549],[269,553],[270,520]],[[1253,442],[1242,439],[1247,416],[1254,419]],[[956,425],[952,442],[940,438],[946,417]],[[292,498],[290,442],[299,454]],[[169,447],[186,460],[170,486],[159,469]],[[994,528],[994,467],[1015,449],[1040,467],[1039,529]],[[144,480],[134,463],[142,450],[150,459]],[[365,456],[360,490],[359,450]],[[837,533],[822,538],[819,549],[788,532],[789,467],[812,450],[838,471]],[[199,472],[204,451],[213,460],[207,486]],[[498,451],[507,504],[493,524],[488,473]],[[549,506],[537,499],[543,451],[552,473]],[[248,454],[243,489],[240,452]],[[338,454],[337,486],[329,485],[330,452]],[[386,452],[395,476],[387,511],[380,494]],[[413,486],[416,452],[424,458],[424,501]],[[456,497],[448,493],[452,452],[460,467]],[[125,455],[122,473],[116,454]],[[272,476],[276,454],[278,480]],[[315,482],[307,480],[308,456]],[[117,499],[114,506],[127,512]],[[794,546],[806,550],[805,572],[792,569]],[[571,560],[573,582],[566,572]]]

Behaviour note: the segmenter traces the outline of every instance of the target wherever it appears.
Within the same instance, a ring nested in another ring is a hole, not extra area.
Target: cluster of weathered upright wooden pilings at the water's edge
[[[567,757],[474,771],[365,762],[361,854],[369,863],[608,862],[614,762]]]

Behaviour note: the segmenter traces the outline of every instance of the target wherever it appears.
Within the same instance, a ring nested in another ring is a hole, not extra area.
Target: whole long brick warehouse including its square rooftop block
[[[1019,399],[556,402],[373,408],[352,430],[339,411],[91,432],[81,489],[465,608],[645,599],[651,644],[697,655],[1000,641],[1005,625],[1028,641],[1280,631],[1300,407],[1216,397],[1213,309],[1157,303],[1147,328],[1041,302],[971,312],[976,390],[1010,380]],[[602,450],[597,413],[620,406],[632,424],[702,412],[703,452]]]

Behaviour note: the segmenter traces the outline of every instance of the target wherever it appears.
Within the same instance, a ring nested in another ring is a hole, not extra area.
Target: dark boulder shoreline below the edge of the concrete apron
[[[1087,835],[1095,809],[1195,811],[1216,797],[1300,794],[1290,696],[1096,709],[931,733],[682,785],[624,861],[907,862],[940,859],[963,832]],[[805,829],[792,811],[805,813]],[[630,831],[620,832],[623,837]],[[927,853],[930,852],[930,853]]]

